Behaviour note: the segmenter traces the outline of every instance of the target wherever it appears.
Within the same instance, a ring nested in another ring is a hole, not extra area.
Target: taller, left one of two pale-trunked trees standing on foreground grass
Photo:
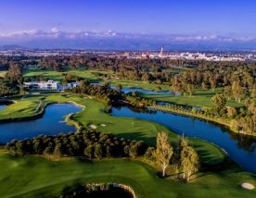
[[[157,148],[155,157],[162,168],[162,177],[165,176],[165,169],[170,163],[170,159],[173,155],[173,147],[168,142],[168,135],[164,132],[159,133],[157,137]]]

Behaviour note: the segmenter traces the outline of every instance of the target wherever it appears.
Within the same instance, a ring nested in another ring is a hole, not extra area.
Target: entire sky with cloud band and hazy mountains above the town
[[[32,48],[254,50],[253,0],[8,0],[0,45]]]

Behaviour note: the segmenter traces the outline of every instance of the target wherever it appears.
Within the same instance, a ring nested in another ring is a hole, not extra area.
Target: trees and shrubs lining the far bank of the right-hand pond
[[[211,98],[214,104],[212,108],[205,108],[197,110],[194,108],[183,108],[181,105],[156,105],[156,107],[163,110],[171,110],[181,114],[191,116],[198,116],[200,118],[218,119],[229,125],[233,130],[246,133],[255,134],[256,132],[256,106],[253,99],[246,99],[243,107],[226,106],[227,99],[223,93],[217,93]]]

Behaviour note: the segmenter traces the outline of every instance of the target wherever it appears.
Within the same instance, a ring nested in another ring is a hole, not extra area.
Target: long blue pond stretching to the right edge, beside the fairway
[[[240,167],[256,172],[255,138],[231,133],[223,126],[206,120],[163,111],[152,110],[150,113],[134,111],[134,109],[132,110],[127,106],[122,106],[119,108],[113,107],[112,115],[151,120],[178,134],[213,142],[222,147]]]

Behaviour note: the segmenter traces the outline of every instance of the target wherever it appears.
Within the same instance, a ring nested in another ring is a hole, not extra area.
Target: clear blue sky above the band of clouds
[[[254,0],[2,0],[0,33],[26,30],[256,35]]]

